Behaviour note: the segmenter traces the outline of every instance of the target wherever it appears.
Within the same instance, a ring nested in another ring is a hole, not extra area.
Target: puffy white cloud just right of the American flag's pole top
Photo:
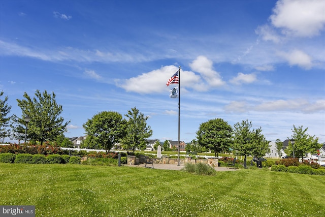
[[[212,87],[224,85],[219,73],[213,70],[212,61],[205,56],[198,56],[189,64],[193,71],[199,72]]]

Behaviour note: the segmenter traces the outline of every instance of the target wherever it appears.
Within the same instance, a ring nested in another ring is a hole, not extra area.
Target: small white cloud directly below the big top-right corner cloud
[[[312,67],[311,57],[301,50],[293,50],[288,53],[280,52],[279,55],[285,58],[290,66],[297,65],[304,69]]]

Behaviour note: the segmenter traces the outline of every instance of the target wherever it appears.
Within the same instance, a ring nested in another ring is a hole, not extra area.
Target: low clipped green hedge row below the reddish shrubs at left
[[[80,157],[67,154],[30,154],[30,153],[1,153],[0,162],[2,163],[23,163],[23,164],[80,164]]]

